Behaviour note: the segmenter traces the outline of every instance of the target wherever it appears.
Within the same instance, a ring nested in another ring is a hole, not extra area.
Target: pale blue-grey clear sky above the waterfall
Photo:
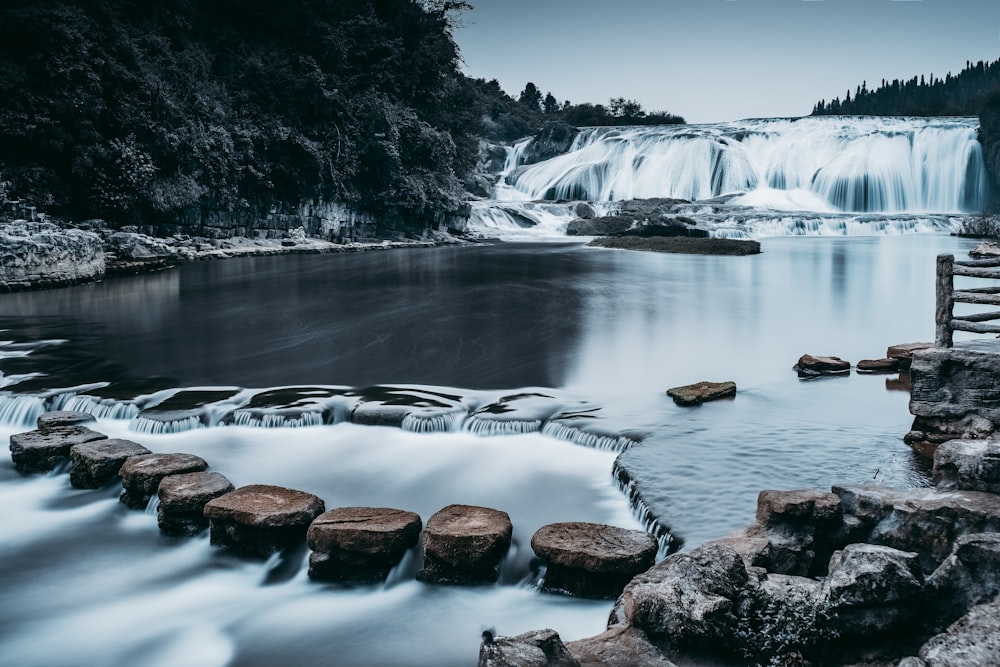
[[[1000,0],[469,0],[464,71],[689,123],[803,116],[863,81],[1000,58]]]

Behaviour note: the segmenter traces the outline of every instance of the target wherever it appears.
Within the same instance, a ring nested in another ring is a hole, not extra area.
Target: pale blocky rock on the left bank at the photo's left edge
[[[51,223],[8,223],[0,229],[0,292],[94,282],[104,277],[97,234]]]

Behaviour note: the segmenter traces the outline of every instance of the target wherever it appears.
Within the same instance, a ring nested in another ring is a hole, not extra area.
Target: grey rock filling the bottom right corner
[[[981,667],[1000,664],[1000,600],[973,607],[947,632],[920,649],[928,667]]]

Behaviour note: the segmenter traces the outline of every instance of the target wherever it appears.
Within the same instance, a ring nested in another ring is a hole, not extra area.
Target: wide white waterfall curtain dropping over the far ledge
[[[512,167],[504,200],[691,201],[804,190],[848,212],[982,210],[987,179],[975,118],[822,117],[588,128],[570,151]]]

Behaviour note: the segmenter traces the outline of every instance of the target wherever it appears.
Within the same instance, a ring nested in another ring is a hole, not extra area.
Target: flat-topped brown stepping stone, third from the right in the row
[[[420,538],[414,512],[385,507],[340,507],[309,526],[309,576],[322,581],[378,583]]]

